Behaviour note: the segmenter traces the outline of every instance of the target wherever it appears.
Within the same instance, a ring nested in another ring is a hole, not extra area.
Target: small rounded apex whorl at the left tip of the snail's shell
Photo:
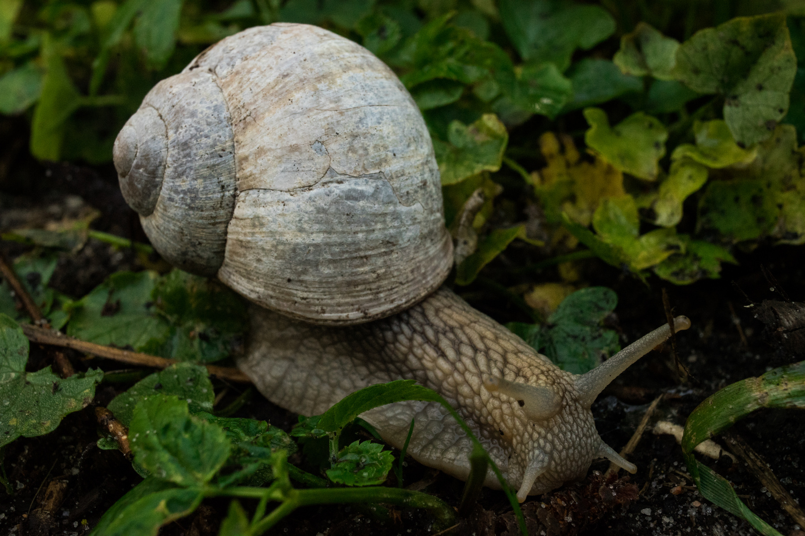
[[[126,203],[139,215],[151,215],[162,190],[167,162],[165,122],[155,108],[142,106],[126,121],[112,153]]]

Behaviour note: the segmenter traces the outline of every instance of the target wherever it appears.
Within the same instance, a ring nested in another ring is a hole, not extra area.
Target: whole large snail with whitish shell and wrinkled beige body
[[[636,470],[590,406],[671,327],[574,375],[442,287],[452,239],[427,127],[357,43],[290,23],[225,38],[147,94],[114,163],[157,251],[253,302],[238,366],[272,402],[316,415],[413,378],[459,411],[519,501],[583,478],[596,457]],[[472,444],[440,405],[361,416],[397,448],[413,419],[407,452],[469,475]],[[485,485],[500,487],[491,473]]]

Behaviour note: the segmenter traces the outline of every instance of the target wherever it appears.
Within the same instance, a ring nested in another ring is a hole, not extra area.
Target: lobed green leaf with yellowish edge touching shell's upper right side
[[[508,141],[506,126],[493,113],[485,113],[469,126],[452,121],[447,142],[433,139],[442,184],[456,184],[481,171],[499,170]]]

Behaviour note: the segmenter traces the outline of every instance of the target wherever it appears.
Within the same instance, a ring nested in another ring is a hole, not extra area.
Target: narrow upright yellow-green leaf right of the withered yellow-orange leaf
[[[659,191],[652,208],[654,225],[673,227],[682,219],[682,203],[688,195],[696,192],[707,182],[707,168],[690,158],[676,158],[671,162],[667,178],[660,182]]]

